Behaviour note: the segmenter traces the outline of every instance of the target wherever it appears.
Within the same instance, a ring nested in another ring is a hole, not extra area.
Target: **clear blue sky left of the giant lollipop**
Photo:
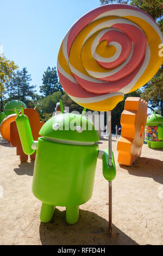
[[[0,0],[4,56],[20,69],[27,66],[39,93],[43,72],[57,65],[59,47],[68,29],[99,5],[99,0]]]

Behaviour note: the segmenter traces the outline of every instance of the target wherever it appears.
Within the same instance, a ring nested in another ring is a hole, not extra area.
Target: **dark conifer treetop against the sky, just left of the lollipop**
[[[44,96],[52,95],[55,92],[62,92],[62,86],[58,81],[57,70],[48,66],[47,70],[43,74],[42,86],[40,86],[40,93]]]

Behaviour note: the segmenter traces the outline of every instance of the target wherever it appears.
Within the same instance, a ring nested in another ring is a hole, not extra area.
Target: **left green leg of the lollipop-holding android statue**
[[[42,203],[41,212],[40,212],[40,220],[43,223],[47,223],[52,220],[53,214],[55,211],[54,205],[49,205],[46,203]]]

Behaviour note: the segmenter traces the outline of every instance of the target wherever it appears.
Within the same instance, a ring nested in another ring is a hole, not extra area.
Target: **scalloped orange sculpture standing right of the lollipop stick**
[[[121,114],[121,138],[117,144],[118,163],[131,166],[141,155],[147,120],[147,102],[128,97]]]

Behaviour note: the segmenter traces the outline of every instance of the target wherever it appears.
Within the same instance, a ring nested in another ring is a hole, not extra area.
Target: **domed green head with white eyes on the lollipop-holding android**
[[[99,141],[93,123],[83,115],[73,113],[55,115],[42,126],[39,134],[54,142],[62,140],[70,144],[86,145]]]

